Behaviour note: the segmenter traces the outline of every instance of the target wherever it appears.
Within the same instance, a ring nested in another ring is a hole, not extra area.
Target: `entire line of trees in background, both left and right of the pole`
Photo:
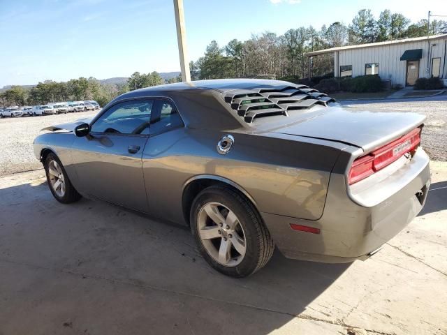
[[[333,22],[321,29],[298,27],[289,29],[278,36],[269,31],[252,35],[249,40],[236,38],[221,47],[215,40],[207,45],[205,54],[197,61],[190,62],[191,80],[256,77],[275,75],[279,79],[297,81],[309,73],[307,52],[355,45],[383,42],[401,38],[447,34],[447,22],[433,20],[430,29],[427,20],[412,23],[400,13],[383,10],[374,17],[369,9],[359,10],[350,24]],[[333,59],[330,54],[314,57],[313,76],[330,76]],[[119,94],[133,89],[158,84],[180,82],[178,72],[139,73],[131,77],[115,77],[96,80],[94,77],[80,77],[68,82],[45,80],[36,86],[12,86],[0,93],[0,105],[39,105],[57,101],[95,100],[105,105]]]

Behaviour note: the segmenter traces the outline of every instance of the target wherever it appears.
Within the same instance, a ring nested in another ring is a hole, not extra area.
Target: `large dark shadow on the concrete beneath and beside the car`
[[[349,267],[275,251],[264,269],[234,279],[207,265],[187,228],[96,200],[59,204],[43,178],[0,185],[0,198],[5,334],[36,325],[54,334],[65,324],[96,334],[268,334]],[[330,317],[330,306],[312,309],[316,319]]]

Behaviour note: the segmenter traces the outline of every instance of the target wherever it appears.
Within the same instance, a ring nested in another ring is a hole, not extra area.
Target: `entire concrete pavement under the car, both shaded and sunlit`
[[[447,163],[432,172],[423,213],[369,260],[276,252],[244,279],[186,228],[59,204],[43,170],[0,177],[0,334],[447,334]]]

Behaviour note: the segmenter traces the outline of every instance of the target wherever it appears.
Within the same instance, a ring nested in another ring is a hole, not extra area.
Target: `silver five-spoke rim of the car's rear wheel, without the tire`
[[[226,267],[242,262],[247,239],[233,211],[219,202],[207,202],[200,208],[197,225],[200,241],[216,262]]]

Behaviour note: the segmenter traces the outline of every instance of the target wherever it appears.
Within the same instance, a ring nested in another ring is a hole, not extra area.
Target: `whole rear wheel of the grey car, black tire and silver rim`
[[[218,185],[201,191],[190,222],[203,258],[222,274],[249,276],[272,257],[274,243],[261,216],[233,188]]]

